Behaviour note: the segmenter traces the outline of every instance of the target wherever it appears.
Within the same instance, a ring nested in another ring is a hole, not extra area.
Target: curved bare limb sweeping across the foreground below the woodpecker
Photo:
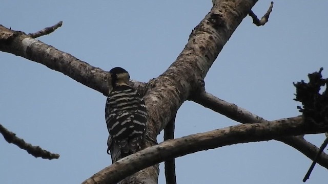
[[[164,160],[238,143],[268,141],[285,135],[322,133],[327,127],[311,127],[301,117],[271,122],[242,124],[168,140],[118,160],[99,171],[84,184],[116,183],[140,169]]]

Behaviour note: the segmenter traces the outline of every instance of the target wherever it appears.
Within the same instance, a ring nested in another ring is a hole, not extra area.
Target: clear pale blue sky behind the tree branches
[[[270,1],[260,1],[261,17]],[[26,33],[63,20],[39,39],[110,70],[147,82],[165,71],[211,1],[5,1],[0,24]],[[246,17],[206,77],[209,93],[268,120],[298,116],[293,82],[324,67],[328,77],[327,1],[275,1],[270,21]],[[0,183],[80,183],[111,164],[106,97],[44,65],[0,53],[0,123],[27,142],[59,153],[34,158],[0,137]],[[193,102],[179,109],[175,137],[238,123]],[[309,135],[317,146],[324,135]],[[162,135],[158,136],[159,142]],[[301,183],[311,160],[276,141],[239,144],[176,159],[178,183]],[[317,165],[306,183],[324,183]],[[165,183],[160,164],[159,183]]]

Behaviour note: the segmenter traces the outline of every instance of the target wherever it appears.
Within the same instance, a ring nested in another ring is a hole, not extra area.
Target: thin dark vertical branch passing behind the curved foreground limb
[[[174,139],[174,127],[175,127],[175,117],[169,121],[169,123],[164,128],[164,141]],[[165,179],[167,184],[176,184],[176,174],[175,174],[175,159],[168,159],[164,162],[165,165]]]

